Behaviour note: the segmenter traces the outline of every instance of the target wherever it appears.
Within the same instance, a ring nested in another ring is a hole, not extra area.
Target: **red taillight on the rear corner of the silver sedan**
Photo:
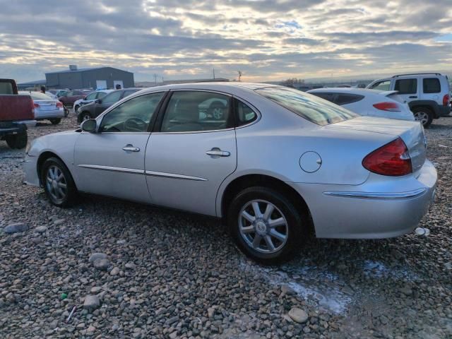
[[[400,137],[364,157],[362,165],[370,172],[393,177],[412,172],[407,145]]]

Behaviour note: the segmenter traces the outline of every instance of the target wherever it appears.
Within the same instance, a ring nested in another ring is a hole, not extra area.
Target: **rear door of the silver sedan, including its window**
[[[152,203],[216,215],[218,188],[237,167],[231,100],[201,90],[171,93],[146,149]]]

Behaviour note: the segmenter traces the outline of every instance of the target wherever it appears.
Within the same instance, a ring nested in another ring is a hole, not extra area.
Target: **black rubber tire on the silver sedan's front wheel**
[[[61,174],[64,176],[63,179],[60,179],[60,183],[66,185],[66,189],[64,189],[64,194],[62,195],[55,192],[56,187],[52,189],[54,183],[50,183],[47,179],[47,177],[52,177],[52,174],[49,174],[49,171],[55,171],[55,168],[57,169],[56,174],[58,174],[58,177]],[[49,157],[49,159],[44,161],[40,168],[40,177],[45,194],[53,205],[66,208],[73,206],[73,204],[76,203],[78,197],[76,184],[73,182],[69,169],[57,157]]]

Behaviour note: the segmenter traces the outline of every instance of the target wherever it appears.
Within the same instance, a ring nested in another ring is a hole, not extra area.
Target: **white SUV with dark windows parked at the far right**
[[[400,74],[373,81],[367,88],[397,90],[415,114],[415,119],[426,128],[433,119],[451,112],[448,78],[441,73]]]

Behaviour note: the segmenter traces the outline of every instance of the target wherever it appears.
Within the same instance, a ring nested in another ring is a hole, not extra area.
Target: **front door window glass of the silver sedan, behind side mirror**
[[[150,121],[164,93],[133,97],[105,114],[100,124],[102,132],[139,133],[148,131]]]

